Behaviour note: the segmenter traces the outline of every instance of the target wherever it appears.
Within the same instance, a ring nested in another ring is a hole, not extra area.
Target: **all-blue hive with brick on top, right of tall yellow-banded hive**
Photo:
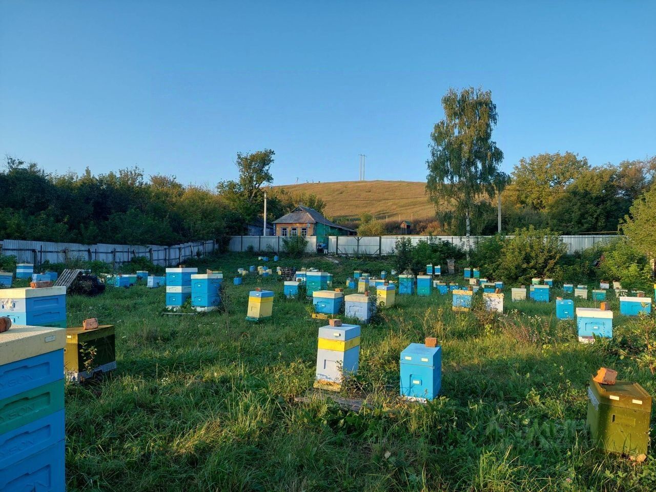
[[[442,382],[441,346],[411,343],[401,352],[401,396],[408,400],[430,401],[440,393]]]

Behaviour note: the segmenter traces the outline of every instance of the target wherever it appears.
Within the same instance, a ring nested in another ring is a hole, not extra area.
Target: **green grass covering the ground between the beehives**
[[[340,287],[353,270],[390,272],[385,261],[282,259],[316,266]],[[309,302],[251,274],[256,255],[199,262],[224,272],[227,312],[161,316],[165,289],[108,289],[70,296],[68,325],[89,317],[116,327],[118,369],[66,389],[70,491],[654,491],[656,465],[590,447],[586,388],[601,365],[652,395],[656,380],[611,343],[583,345],[554,303],[510,302],[495,317],[455,315],[451,295],[397,296],[363,327],[358,377],[344,395],[359,413],[312,388],[318,327]],[[270,262],[271,266],[274,266]],[[273,319],[245,321],[248,291],[276,292]],[[508,286],[510,287],[510,286]],[[555,292],[558,294],[558,291]],[[594,302],[578,302],[594,306]],[[618,312],[617,300],[611,306]],[[616,333],[633,323],[616,316]],[[438,337],[441,398],[398,398],[399,356]],[[651,446],[651,454],[656,451]]]

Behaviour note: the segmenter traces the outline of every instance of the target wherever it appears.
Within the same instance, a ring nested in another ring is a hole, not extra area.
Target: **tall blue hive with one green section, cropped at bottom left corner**
[[[0,490],[66,489],[66,331],[12,326],[0,336]]]

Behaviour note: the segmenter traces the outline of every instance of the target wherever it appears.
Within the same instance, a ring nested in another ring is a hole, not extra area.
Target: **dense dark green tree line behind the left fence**
[[[237,154],[239,178],[215,189],[185,185],[175,176],[145,176],[134,167],[116,173],[47,173],[37,163],[7,157],[0,171],[0,238],[75,243],[172,245],[245,234],[299,203],[323,210],[316,195],[270,188],[274,152]]]

